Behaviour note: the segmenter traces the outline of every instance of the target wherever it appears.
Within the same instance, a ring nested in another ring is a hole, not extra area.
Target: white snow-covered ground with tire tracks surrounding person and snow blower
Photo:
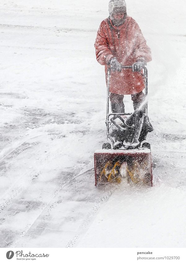
[[[94,187],[106,141],[94,42],[108,1],[0,2],[0,247],[186,246],[186,4],[126,3],[153,55],[150,189]]]

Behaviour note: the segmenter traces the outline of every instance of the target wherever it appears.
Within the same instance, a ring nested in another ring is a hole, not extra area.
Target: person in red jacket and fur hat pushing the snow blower
[[[131,94],[134,110],[142,109],[145,95],[142,68],[152,60],[151,50],[137,22],[127,15],[124,0],[111,0],[108,5],[109,17],[103,20],[95,40],[96,59],[105,65],[105,77],[110,67],[109,98],[113,113],[125,112],[124,95]],[[132,66],[123,69],[123,66]],[[148,116],[148,132],[153,130]]]

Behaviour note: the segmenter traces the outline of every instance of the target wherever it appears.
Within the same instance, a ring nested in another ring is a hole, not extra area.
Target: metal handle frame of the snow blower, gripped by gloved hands
[[[132,66],[122,66],[124,69],[132,69]],[[110,68],[108,68],[107,71],[108,77],[107,77],[107,113],[106,113],[106,126],[107,126],[107,137],[113,141],[113,139],[109,135],[109,124],[113,123],[119,130],[123,131],[124,128],[118,125],[114,119],[116,119],[119,115],[131,115],[132,112],[118,112],[118,113],[109,113],[109,84],[110,84]],[[144,84],[145,84],[145,97],[148,94],[148,70],[146,67],[143,67],[143,74],[144,74]],[[145,104],[145,114],[148,114],[148,103]],[[109,117],[113,116],[112,119],[109,121]],[[121,117],[122,118],[122,117]],[[121,119],[120,118],[120,119]],[[124,120],[122,119],[122,122]]]

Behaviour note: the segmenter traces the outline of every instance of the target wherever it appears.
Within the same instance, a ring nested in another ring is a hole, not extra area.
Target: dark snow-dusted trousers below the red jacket
[[[110,93],[109,97],[110,97],[110,102],[111,102],[111,110],[113,113],[125,112],[125,105],[123,103],[124,95]],[[131,99],[133,101],[134,110],[140,107],[141,103],[143,103],[144,101],[144,98],[145,98],[145,95],[142,91],[136,94],[131,94]],[[145,108],[143,108],[142,111],[144,112]]]

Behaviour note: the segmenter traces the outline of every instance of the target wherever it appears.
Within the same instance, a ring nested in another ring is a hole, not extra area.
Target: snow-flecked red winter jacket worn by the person
[[[139,60],[152,60],[150,48],[141,33],[136,21],[127,16],[121,26],[113,26],[107,18],[100,24],[95,41],[96,59],[105,65],[107,82],[107,68],[111,58],[116,57],[123,66],[131,66]],[[132,72],[122,69],[121,72],[110,72],[109,91],[116,94],[136,94],[144,89],[143,72]]]

